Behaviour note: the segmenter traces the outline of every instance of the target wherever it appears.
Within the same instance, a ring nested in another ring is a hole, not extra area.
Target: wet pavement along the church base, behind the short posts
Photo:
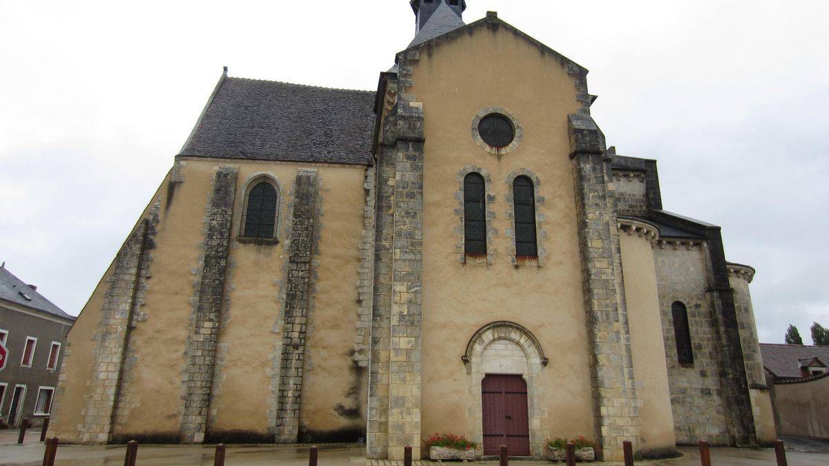
[[[39,442],[40,431],[30,430],[26,442],[17,445],[16,430],[0,431],[0,464],[41,464],[44,446]],[[788,464],[792,466],[825,466],[829,464],[829,443],[812,439],[783,439],[790,445],[787,449]],[[202,445],[156,445],[138,448],[138,464],[213,464],[214,447]],[[85,446],[61,445],[57,452],[56,464],[74,465],[121,465],[124,464],[124,445]],[[401,462],[366,461],[365,449],[356,444],[322,445],[319,449],[319,464],[337,466],[397,466]],[[636,464],[650,466],[697,466],[700,456],[696,448],[680,449],[681,458],[658,461],[637,461]],[[823,452],[823,453],[816,453]],[[520,466],[549,466],[547,461],[512,461]],[[494,465],[497,461],[480,461],[478,464]],[[736,466],[774,465],[773,449],[730,449],[712,448],[711,463]],[[228,445],[225,464],[304,466],[308,464],[308,445]],[[430,461],[415,464],[436,464]],[[618,465],[620,463],[604,463]]]

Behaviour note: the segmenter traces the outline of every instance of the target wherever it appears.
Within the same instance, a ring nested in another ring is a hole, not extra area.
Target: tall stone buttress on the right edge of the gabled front
[[[623,456],[623,441],[639,445],[628,316],[621,293],[615,199],[608,192],[604,134],[587,114],[570,114],[584,308],[590,345],[596,439],[602,459]]]

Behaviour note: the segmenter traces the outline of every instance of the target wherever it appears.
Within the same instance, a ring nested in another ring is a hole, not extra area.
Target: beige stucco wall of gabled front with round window
[[[449,75],[453,78],[446,79]],[[577,104],[572,80],[555,56],[540,56],[536,46],[509,32],[485,30],[422,54],[413,80],[410,92],[429,115],[424,119],[424,289],[429,291],[424,293],[423,433],[481,430],[472,425],[480,415],[469,412],[467,399],[479,404],[480,394],[470,393],[461,357],[479,328],[508,320],[531,329],[545,352],[555,355],[536,375],[543,402],[538,428],[531,430],[533,453],[541,455],[548,438],[590,435],[592,406],[579,395],[589,392],[590,383],[567,135],[567,114]],[[482,151],[469,129],[473,116],[493,105],[520,119],[526,134],[502,156]],[[455,250],[455,230],[463,227],[455,192],[463,191],[458,172],[467,166],[487,173],[492,185],[487,191],[499,206],[492,219],[497,233],[487,245],[492,265],[463,263]],[[511,260],[513,226],[505,211],[519,169],[541,180],[536,196],[544,201],[536,219],[539,247],[548,251],[541,265],[516,266]]]

